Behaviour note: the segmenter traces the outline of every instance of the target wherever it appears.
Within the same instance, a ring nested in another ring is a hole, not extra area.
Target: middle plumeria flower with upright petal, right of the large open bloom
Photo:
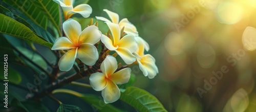
[[[133,35],[125,35],[120,39],[120,29],[117,24],[106,22],[112,33],[112,39],[102,35],[101,41],[110,51],[116,51],[126,64],[132,64],[136,57],[132,54],[137,49],[137,43]]]

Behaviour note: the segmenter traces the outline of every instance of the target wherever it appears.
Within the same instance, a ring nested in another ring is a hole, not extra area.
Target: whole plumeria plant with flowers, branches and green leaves
[[[112,105],[118,100],[139,111],[166,111],[153,95],[132,86],[132,66],[150,79],[158,74],[155,58],[144,53],[150,50],[148,43],[115,12],[104,9],[109,17],[91,17],[87,2],[0,1],[1,56],[9,56],[1,61],[9,63],[11,87],[8,108],[1,110],[50,111],[42,100],[51,98],[59,104],[57,111],[82,111],[56,97],[69,94],[98,111],[125,111]],[[101,91],[102,99],[98,92],[81,93],[67,85]]]

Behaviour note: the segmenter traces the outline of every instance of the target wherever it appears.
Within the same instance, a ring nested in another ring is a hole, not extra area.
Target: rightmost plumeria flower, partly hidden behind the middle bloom
[[[144,54],[144,44],[142,38],[135,38],[138,43],[138,49],[134,53],[139,63],[139,68],[144,76],[152,79],[158,74],[158,68],[155,64],[155,58],[150,54]]]

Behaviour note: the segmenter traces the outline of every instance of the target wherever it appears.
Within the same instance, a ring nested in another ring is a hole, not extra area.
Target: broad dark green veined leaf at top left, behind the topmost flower
[[[47,29],[48,21],[50,21],[61,34],[59,6],[52,0],[4,0],[4,2],[24,12],[35,24],[44,29]]]

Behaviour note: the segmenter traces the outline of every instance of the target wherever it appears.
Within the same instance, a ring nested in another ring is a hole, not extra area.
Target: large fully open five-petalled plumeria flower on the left
[[[59,70],[69,71],[76,57],[84,64],[94,65],[99,57],[94,44],[102,35],[98,27],[89,26],[81,31],[76,20],[68,19],[63,23],[63,31],[67,37],[57,38],[52,47],[52,50],[69,50],[59,59]]]

